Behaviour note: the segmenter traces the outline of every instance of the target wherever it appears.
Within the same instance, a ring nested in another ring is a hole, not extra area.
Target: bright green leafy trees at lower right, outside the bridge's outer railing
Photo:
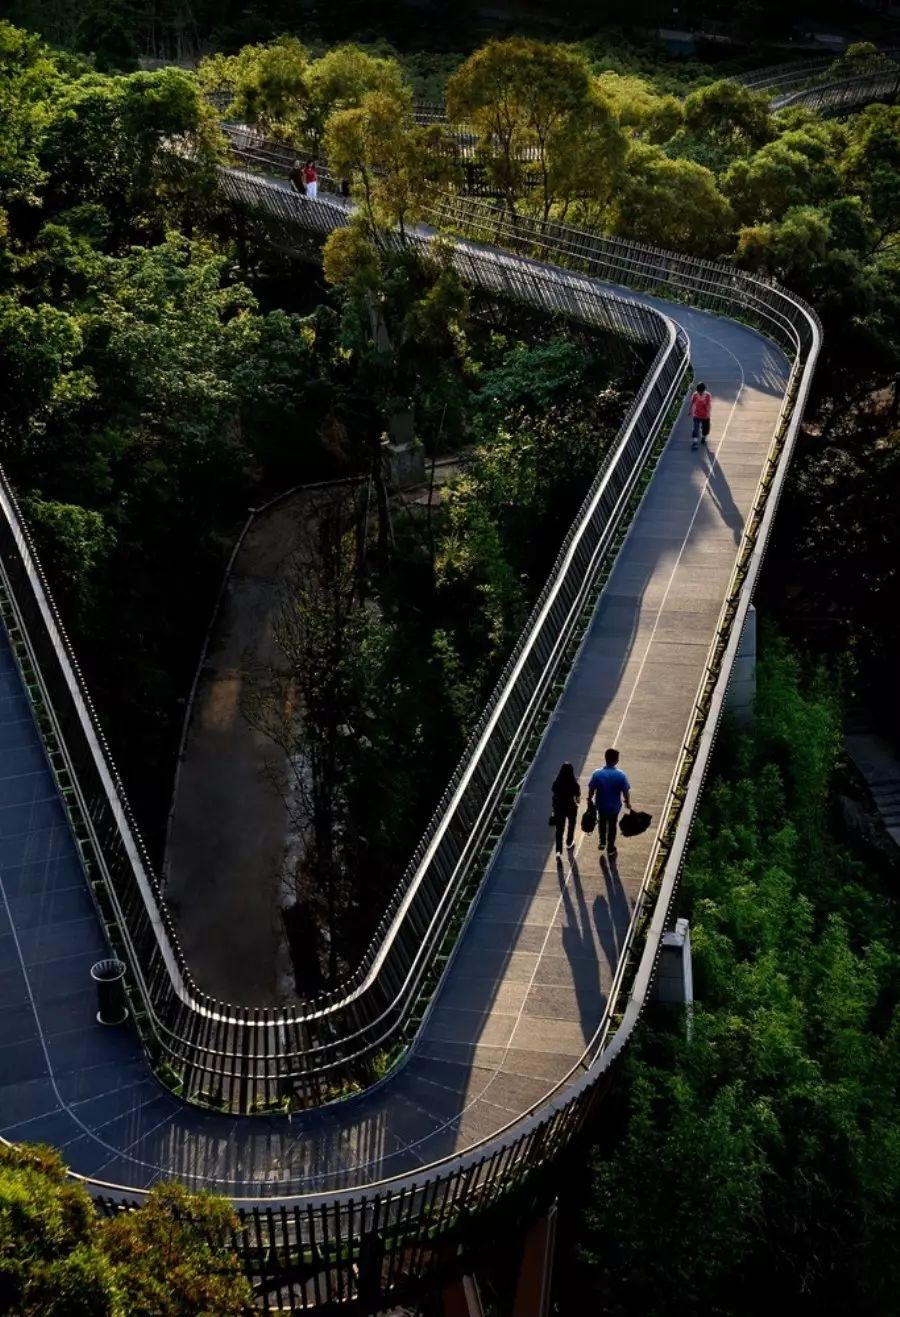
[[[896,910],[834,839],[839,747],[830,682],[767,647],[758,723],[685,867],[693,1033],[648,1031],[627,1063],[572,1284],[582,1310],[751,1314],[775,1293],[793,1312],[892,1310]]]

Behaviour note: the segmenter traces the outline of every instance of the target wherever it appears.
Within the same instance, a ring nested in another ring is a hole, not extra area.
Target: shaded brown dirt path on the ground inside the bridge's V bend
[[[291,558],[332,498],[298,491],[261,512],[225,586],[198,682],[163,874],[198,985],[221,1001],[296,998],[281,914],[290,820],[283,752],[242,712],[253,674],[279,664],[273,628]]]

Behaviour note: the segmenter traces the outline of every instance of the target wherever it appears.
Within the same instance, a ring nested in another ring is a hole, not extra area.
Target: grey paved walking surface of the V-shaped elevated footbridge
[[[654,832],[622,842],[611,868],[596,839],[580,835],[557,868],[549,784],[568,759],[584,788],[615,744],[635,805],[659,823],[788,374],[754,331],[652,304],[690,336],[694,370],[714,398],[712,446],[690,452],[687,419],[677,420],[476,915],[406,1064],[380,1088],[290,1119],[215,1115],[153,1080],[128,1027],[95,1022],[88,971],[105,947],[3,641],[5,1138],[53,1143],[74,1171],[113,1185],[178,1176],[239,1198],[308,1193],[463,1151],[539,1105],[577,1067],[604,1015]]]

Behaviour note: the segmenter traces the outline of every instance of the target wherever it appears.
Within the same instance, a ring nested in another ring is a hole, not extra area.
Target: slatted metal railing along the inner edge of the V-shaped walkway
[[[344,211],[252,175],[227,173],[223,188],[242,204],[266,203],[295,230],[324,233],[345,223]],[[430,240],[418,234],[407,234],[405,245],[424,257],[430,250]],[[304,1008],[254,1010],[215,1001],[195,985],[14,500],[3,491],[0,549],[9,594],[76,784],[83,849],[130,967],[136,1018],[162,1073],[184,1096],[232,1110],[285,1096],[322,1101],[402,1036],[455,898],[505,803],[518,751],[559,669],[592,574],[687,367],[684,335],[651,308],[465,244],[453,248],[453,259],[477,287],[598,325],[656,349],[656,357],[362,963],[340,989]]]

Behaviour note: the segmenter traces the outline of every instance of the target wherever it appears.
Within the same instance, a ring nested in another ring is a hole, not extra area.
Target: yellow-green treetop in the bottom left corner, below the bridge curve
[[[59,1154],[0,1146],[0,1308],[9,1317],[249,1313],[228,1202],[177,1184],[101,1221]]]

